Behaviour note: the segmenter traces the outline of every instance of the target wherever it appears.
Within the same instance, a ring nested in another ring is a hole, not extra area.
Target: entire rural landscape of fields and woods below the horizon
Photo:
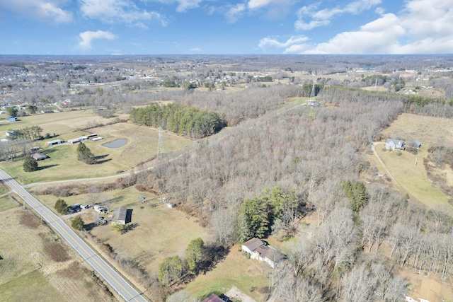
[[[0,55],[0,98],[1,301],[453,301],[452,55]]]

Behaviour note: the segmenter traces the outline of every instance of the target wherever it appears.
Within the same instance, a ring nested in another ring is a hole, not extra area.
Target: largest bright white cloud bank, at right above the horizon
[[[339,33],[305,53],[450,53],[453,8],[449,0],[408,1],[397,16],[387,13],[359,30]]]

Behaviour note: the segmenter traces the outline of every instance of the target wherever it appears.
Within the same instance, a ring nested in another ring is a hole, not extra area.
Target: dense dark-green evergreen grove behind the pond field
[[[216,112],[176,103],[133,108],[130,119],[137,124],[162,127],[193,139],[208,137],[225,126],[223,118]]]

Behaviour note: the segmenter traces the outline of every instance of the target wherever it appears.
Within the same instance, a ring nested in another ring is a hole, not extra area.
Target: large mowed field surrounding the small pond
[[[8,173],[15,176],[23,184],[45,182],[51,180],[67,180],[74,178],[96,178],[114,175],[119,171],[134,168],[156,155],[159,134],[156,129],[130,123],[110,124],[90,129],[92,133],[103,137],[101,141],[84,141],[84,144],[98,157],[98,163],[87,165],[77,160],[78,144],[62,144],[43,147],[42,153],[49,158],[39,161],[39,170],[32,173],[23,171],[23,161],[1,163]],[[62,139],[71,139],[86,135],[84,132],[71,132]],[[127,143],[117,149],[110,149],[103,144],[115,139],[126,139]],[[183,148],[192,141],[178,137],[169,132],[163,133],[165,151]],[[38,144],[39,145],[39,144]]]

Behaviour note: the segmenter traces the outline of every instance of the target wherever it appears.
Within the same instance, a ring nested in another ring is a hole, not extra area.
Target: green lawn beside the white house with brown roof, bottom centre
[[[219,262],[212,271],[197,276],[185,290],[202,299],[212,293],[224,294],[231,287],[236,286],[256,301],[264,301],[258,289],[269,285],[266,272],[270,272],[268,265],[247,259],[239,252],[239,245],[234,245],[224,261]]]

